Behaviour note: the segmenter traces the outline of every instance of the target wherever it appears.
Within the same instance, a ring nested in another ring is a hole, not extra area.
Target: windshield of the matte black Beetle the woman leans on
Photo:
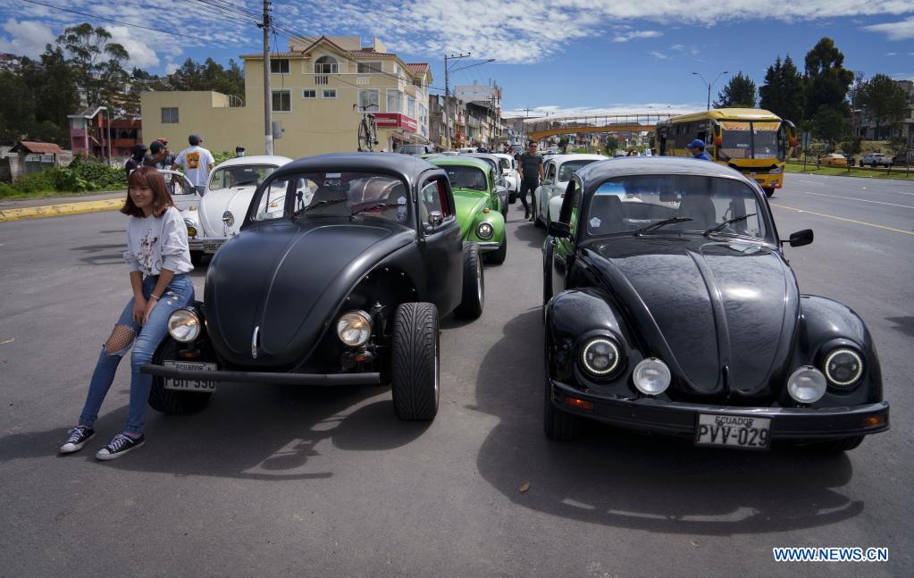
[[[261,188],[254,220],[288,215],[310,217],[374,217],[405,223],[409,192],[397,177],[372,173],[301,173],[273,179]],[[292,202],[289,201],[292,197]]]

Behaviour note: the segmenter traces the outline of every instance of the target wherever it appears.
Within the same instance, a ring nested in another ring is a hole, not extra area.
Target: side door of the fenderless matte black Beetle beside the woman
[[[447,177],[420,181],[419,232],[425,258],[429,301],[441,316],[460,305],[463,278],[463,240]]]

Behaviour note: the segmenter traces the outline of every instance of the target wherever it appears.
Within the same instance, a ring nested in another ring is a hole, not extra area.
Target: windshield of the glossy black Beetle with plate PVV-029
[[[587,231],[590,235],[631,233],[665,219],[689,219],[658,225],[657,233],[704,233],[730,219],[719,230],[766,239],[765,208],[755,191],[730,178],[694,175],[645,175],[606,181],[590,198]]]

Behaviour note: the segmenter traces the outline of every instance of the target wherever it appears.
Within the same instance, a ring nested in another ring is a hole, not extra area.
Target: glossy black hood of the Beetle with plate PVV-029
[[[780,389],[800,302],[779,252],[750,241],[644,236],[588,253],[652,354],[680,378],[675,387],[755,398]]]

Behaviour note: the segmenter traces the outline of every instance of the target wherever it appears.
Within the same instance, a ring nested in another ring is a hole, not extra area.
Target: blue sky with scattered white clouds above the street
[[[158,73],[187,58],[226,63],[260,47],[260,29],[240,14],[259,12],[255,0],[36,1],[181,36],[8,0],[0,6],[0,52],[36,56],[83,21],[108,28],[133,64]],[[713,80],[741,70],[760,84],[778,55],[791,54],[802,70],[824,36],[834,38],[848,69],[914,79],[912,0],[279,0],[274,18],[280,49],[290,31],[374,35],[406,61],[429,62],[437,87],[445,52],[496,59],[456,72],[452,85],[497,81],[505,112],[695,110],[707,89],[692,71]]]

